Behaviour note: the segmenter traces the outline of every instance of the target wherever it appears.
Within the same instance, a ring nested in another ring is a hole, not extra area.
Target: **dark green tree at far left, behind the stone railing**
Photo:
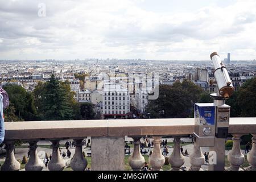
[[[16,120],[13,113],[19,119],[24,119],[24,121],[32,121],[35,119],[36,108],[34,105],[34,98],[30,92],[27,92],[22,86],[7,84],[3,87],[9,95],[10,108],[7,109],[10,117]]]

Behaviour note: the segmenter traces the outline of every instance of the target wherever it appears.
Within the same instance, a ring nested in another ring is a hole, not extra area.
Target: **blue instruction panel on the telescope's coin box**
[[[213,103],[195,104],[196,125],[214,125],[215,108]]]

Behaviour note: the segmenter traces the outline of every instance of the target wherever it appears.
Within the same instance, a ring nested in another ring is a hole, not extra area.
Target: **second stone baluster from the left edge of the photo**
[[[38,151],[36,150],[36,148],[38,148],[36,145],[38,141],[30,141],[28,143],[30,144],[30,158],[25,166],[25,169],[26,171],[42,171],[44,163],[41,159],[39,159]]]

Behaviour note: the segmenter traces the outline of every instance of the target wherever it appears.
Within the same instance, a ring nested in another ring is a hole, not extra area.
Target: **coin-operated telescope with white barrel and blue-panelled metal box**
[[[217,93],[210,94],[213,103],[195,104],[195,141],[199,146],[214,146],[215,138],[226,138],[229,133],[230,106],[225,104],[234,92],[232,81],[217,52],[210,55]]]

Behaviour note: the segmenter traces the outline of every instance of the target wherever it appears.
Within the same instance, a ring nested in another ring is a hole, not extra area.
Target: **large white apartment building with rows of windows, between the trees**
[[[102,94],[102,118],[127,118],[130,114],[130,96],[127,88],[107,82]]]

